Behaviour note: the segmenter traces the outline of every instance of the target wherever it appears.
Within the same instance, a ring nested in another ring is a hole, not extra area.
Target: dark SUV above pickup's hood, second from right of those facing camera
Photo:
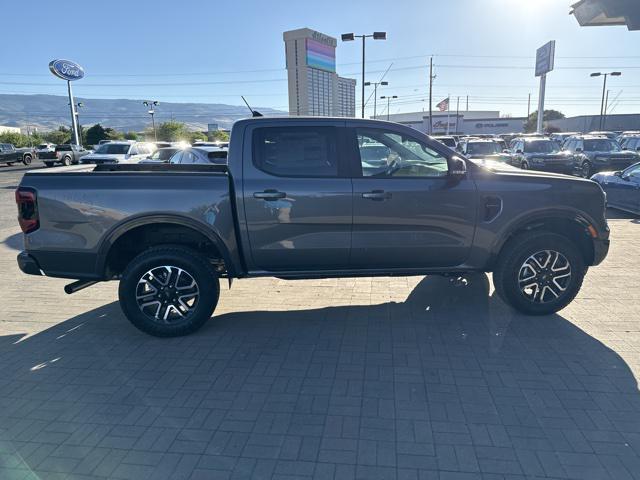
[[[523,170],[573,173],[573,160],[560,151],[560,145],[550,138],[518,138],[512,147],[511,164]]]

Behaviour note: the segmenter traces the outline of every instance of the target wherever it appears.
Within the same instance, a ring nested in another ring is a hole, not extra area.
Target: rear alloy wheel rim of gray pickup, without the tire
[[[163,265],[146,272],[136,287],[140,311],[155,322],[171,324],[193,314],[200,289],[195,279],[182,268]]]

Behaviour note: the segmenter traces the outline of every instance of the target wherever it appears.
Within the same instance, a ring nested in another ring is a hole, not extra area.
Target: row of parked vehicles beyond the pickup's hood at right
[[[608,206],[640,215],[640,132],[437,138],[485,164],[589,178],[607,193]]]

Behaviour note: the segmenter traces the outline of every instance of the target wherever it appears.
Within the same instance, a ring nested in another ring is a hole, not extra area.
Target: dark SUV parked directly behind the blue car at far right
[[[622,150],[615,140],[596,135],[567,139],[564,152],[572,159],[574,171],[584,178],[602,171],[624,170],[639,160],[636,152]]]

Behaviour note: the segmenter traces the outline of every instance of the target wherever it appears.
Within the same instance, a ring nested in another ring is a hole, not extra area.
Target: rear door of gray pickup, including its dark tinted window
[[[348,265],[352,186],[344,122],[268,121],[247,127],[243,196],[249,270],[332,270]]]

